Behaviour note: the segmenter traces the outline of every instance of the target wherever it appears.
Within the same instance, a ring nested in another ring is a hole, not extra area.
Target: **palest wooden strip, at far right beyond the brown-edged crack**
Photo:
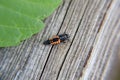
[[[119,80],[108,75],[111,58],[117,58],[120,54],[120,1],[114,0],[109,9],[98,33],[91,58],[86,65],[84,72],[85,79],[95,80]],[[116,61],[117,62],[117,61]],[[120,62],[118,62],[120,64]],[[119,66],[118,64],[118,66]],[[113,68],[114,69],[114,68]],[[112,72],[111,72],[112,73]]]

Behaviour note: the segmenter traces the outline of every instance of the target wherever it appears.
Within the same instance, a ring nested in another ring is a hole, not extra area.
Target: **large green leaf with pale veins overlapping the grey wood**
[[[61,0],[0,0],[0,47],[15,46],[39,32]]]

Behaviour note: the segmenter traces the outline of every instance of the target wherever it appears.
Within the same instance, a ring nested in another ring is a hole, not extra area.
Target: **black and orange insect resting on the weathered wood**
[[[60,34],[60,35],[55,35],[52,38],[46,40],[43,42],[44,45],[56,45],[60,44],[61,42],[65,43],[66,40],[69,40],[69,35],[68,34]]]

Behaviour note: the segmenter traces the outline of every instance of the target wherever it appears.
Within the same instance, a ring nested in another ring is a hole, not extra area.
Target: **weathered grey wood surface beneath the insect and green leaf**
[[[115,80],[120,0],[64,0],[45,23],[21,45],[0,48],[0,80]],[[70,42],[42,44],[64,32]]]

